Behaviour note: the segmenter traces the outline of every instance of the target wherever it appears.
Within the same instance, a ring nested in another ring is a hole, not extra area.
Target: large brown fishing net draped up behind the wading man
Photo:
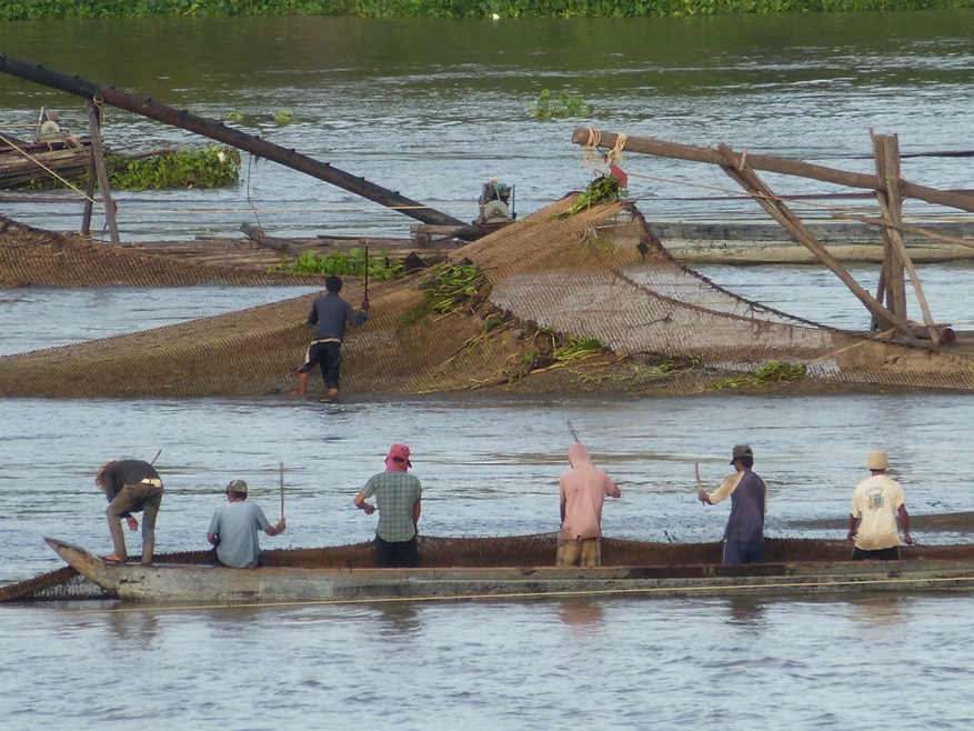
[[[569,196],[453,251],[448,263],[472,262],[486,284],[459,297],[455,307],[422,312],[435,270],[371,282],[370,320],[351,330],[343,347],[343,390],[682,394],[727,387],[974,388],[974,359],[963,333],[935,349],[789,316],[676,262],[633,204],[570,212],[574,201]],[[6,222],[0,282],[28,281],[80,287],[297,280],[100,248]],[[363,284],[347,278],[342,294],[358,302]],[[285,393],[310,340],[303,323],[311,301],[300,297],[0,358],[0,395]],[[321,388],[317,375],[312,383]]]

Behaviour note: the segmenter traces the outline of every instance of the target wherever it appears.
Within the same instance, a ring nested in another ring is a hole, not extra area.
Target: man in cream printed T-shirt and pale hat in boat
[[[903,487],[886,477],[888,465],[886,452],[870,452],[866,469],[873,475],[860,482],[852,494],[847,538],[855,541],[853,561],[900,560],[897,514],[903,525],[903,540],[907,544],[913,542],[910,538],[910,513],[903,502]]]

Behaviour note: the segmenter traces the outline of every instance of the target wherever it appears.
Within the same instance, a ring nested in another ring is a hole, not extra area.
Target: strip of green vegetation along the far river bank
[[[185,16],[646,18],[971,8],[974,0],[0,0],[0,20]]]

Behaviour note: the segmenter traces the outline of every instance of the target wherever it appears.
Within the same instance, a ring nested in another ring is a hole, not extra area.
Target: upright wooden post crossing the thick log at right
[[[920,283],[920,277],[910,259],[910,252],[906,251],[906,244],[903,243],[903,236],[900,229],[895,228],[902,223],[903,196],[900,190],[900,138],[895,134],[870,134],[873,138],[873,149],[876,157],[876,172],[885,182],[885,190],[876,193],[880,202],[880,210],[883,218],[892,226],[883,227],[883,269],[893,277],[898,276],[896,286],[900,288],[897,297],[903,300],[902,312],[896,312],[898,317],[906,320],[906,284],[903,280],[903,270],[910,274],[910,282],[916,292],[916,300],[920,302],[920,309],[923,311],[923,322],[926,326],[930,339],[934,346],[940,344],[940,334],[937,333],[936,323],[930,312],[926,298],[923,294],[923,286]],[[890,254],[886,256],[888,244]],[[888,268],[887,268],[888,259]],[[888,304],[888,302],[887,302]],[[898,307],[898,303],[897,303]]]

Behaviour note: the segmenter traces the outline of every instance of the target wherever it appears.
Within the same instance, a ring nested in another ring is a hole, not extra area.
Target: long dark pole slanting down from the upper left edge
[[[70,94],[90,99],[103,104],[110,104],[148,117],[173,127],[179,127],[197,134],[202,134],[218,142],[223,142],[240,150],[251,152],[267,160],[272,160],[293,170],[298,170],[312,178],[338,186],[357,196],[392,208],[400,213],[414,218],[423,223],[435,226],[463,226],[463,222],[445,213],[441,213],[429,206],[400,196],[395,191],[388,190],[364,178],[333,168],[328,162],[319,162],[305,154],[282,148],[273,142],[268,142],[253,134],[247,134],[223,122],[204,117],[191,114],[187,110],[174,109],[164,104],[158,104],[151,99],[143,99],[132,93],[120,91],[114,87],[106,87],[94,81],[88,81],[79,77],[71,77],[59,71],[51,71],[36,63],[28,63],[19,59],[0,54],[0,72],[28,81],[34,81],[52,89],[60,89]]]

